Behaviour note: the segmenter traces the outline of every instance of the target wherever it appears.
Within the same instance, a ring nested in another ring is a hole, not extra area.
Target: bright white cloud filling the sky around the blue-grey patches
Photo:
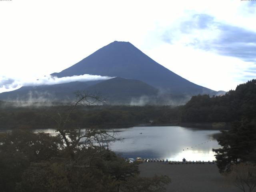
[[[227,87],[234,88],[228,82],[238,82],[240,78],[230,72],[230,68],[232,71],[233,68],[239,70],[242,67],[238,68],[237,65],[247,67],[250,64],[242,60],[235,60],[232,64],[232,59],[228,58],[230,64],[225,64],[228,67],[219,68],[222,76],[228,74],[230,77],[224,87],[214,79],[206,79],[204,74],[208,68],[200,66],[208,62],[214,65],[212,60],[224,63],[227,58],[184,45],[198,36],[204,39],[216,37],[217,31],[200,30],[190,36],[180,36],[180,40],[174,39],[176,48],[162,42],[162,32],[170,29],[170,26],[172,29],[178,27],[182,20],[193,14],[209,14],[219,22],[256,31],[256,25],[253,25],[256,20],[254,10],[254,7],[248,8],[248,2],[240,0],[2,1],[0,76],[33,82],[38,76],[59,72],[102,46],[120,40],[131,42],[160,64],[186,78],[187,72],[184,69],[188,68],[188,64],[184,63],[184,58],[181,62],[179,57],[173,56],[173,53],[177,54],[176,49],[185,51],[187,60],[194,66],[190,68],[192,71],[188,80],[196,79],[195,83],[207,84],[208,88],[215,90],[227,90]],[[161,51],[158,52],[158,49]],[[194,53],[198,53],[201,58],[195,58]],[[27,77],[32,80],[24,80]]]

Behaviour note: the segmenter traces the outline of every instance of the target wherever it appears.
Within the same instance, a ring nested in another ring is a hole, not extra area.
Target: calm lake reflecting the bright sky
[[[212,161],[212,148],[220,148],[213,135],[218,130],[198,130],[180,126],[149,126],[114,129],[121,142],[110,142],[110,149],[124,158],[168,158],[172,161]],[[34,130],[55,135],[53,129]]]

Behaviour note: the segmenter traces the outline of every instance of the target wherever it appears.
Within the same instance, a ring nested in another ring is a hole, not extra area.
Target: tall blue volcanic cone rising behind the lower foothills
[[[101,75],[141,80],[171,94],[214,94],[158,64],[130,42],[114,41],[52,76]]]

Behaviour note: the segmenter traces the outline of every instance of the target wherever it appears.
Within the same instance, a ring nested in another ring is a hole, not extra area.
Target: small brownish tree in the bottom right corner
[[[243,192],[252,192],[256,187],[256,166],[252,163],[232,165],[227,176]]]

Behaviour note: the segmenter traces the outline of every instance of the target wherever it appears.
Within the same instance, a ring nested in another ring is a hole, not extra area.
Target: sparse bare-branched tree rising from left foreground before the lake
[[[115,138],[115,132],[113,130],[101,130],[84,128],[80,126],[74,126],[70,124],[70,116],[77,109],[78,106],[90,106],[95,104],[103,104],[105,100],[100,98],[100,95],[90,95],[87,92],[76,92],[75,102],[62,112],[57,111],[55,115],[48,115],[54,122],[56,122],[56,132],[58,137],[64,140],[65,149],[68,151],[70,157],[74,159],[74,156],[83,147],[94,146],[106,146],[110,140],[118,140]]]

